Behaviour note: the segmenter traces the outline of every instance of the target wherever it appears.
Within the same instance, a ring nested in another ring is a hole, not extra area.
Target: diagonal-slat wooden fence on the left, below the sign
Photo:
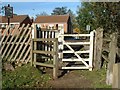
[[[1,30],[1,49],[2,59],[6,61],[16,61],[28,63],[31,60],[31,28],[28,24],[21,27],[10,25],[6,29]]]

